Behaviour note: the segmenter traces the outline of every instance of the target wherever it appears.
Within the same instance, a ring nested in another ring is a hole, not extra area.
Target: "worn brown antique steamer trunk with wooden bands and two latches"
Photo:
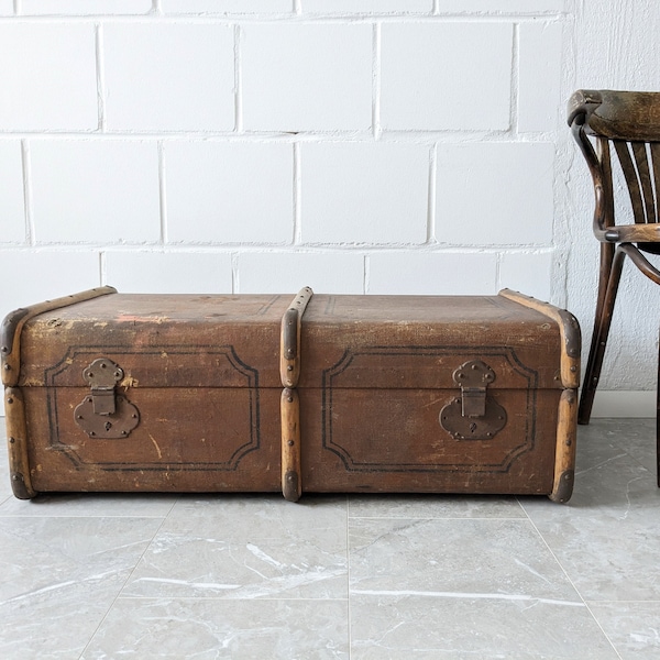
[[[573,487],[580,329],[498,296],[123,295],[9,315],[14,494]]]

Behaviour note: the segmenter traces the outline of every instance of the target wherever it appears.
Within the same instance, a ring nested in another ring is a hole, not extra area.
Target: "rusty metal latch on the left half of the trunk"
[[[127,438],[140,424],[140,413],[116,389],[123,380],[119,364],[100,358],[82,370],[90,394],[74,410],[76,424],[90,438]]]

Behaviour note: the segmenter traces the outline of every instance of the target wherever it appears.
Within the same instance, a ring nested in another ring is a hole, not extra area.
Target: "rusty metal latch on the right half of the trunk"
[[[465,362],[453,373],[461,388],[440,411],[440,426],[457,440],[487,440],[506,426],[506,410],[492,397],[487,387],[495,381],[495,372],[481,360]]]

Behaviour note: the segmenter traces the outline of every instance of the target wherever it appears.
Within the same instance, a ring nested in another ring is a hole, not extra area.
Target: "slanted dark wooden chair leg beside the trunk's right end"
[[[586,362],[586,372],[580,397],[580,407],[578,409],[578,424],[588,424],[591,418],[625,256],[626,253],[622,250],[615,251],[613,244],[602,243],[598,299],[596,302],[594,331]]]

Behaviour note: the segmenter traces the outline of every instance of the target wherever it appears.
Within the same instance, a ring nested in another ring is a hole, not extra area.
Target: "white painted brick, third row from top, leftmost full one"
[[[29,141],[33,240],[157,243],[158,153],[153,141]]]

